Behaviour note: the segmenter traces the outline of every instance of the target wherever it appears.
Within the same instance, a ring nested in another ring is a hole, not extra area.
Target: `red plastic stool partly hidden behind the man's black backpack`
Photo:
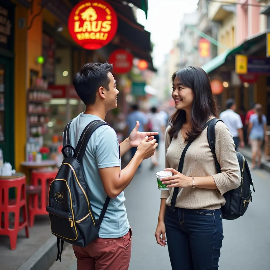
[[[55,179],[58,170],[32,171],[31,185],[41,187],[40,193],[29,193],[29,226],[33,227],[36,215],[48,215],[46,206],[48,205],[48,195],[50,183]]]

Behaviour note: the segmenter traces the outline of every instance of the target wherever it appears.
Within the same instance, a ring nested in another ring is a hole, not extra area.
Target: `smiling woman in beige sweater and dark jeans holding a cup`
[[[218,117],[209,77],[201,68],[188,67],[175,72],[172,82],[177,111],[166,129],[165,170],[174,175],[162,180],[170,190],[161,191],[155,236],[157,243],[165,246],[166,232],[173,270],[218,269],[223,239],[221,206],[225,204],[222,194],[240,185],[234,141],[228,128],[218,122],[215,150],[222,173],[217,173],[204,128],[208,120]],[[178,163],[188,141],[193,142],[179,173]],[[179,187],[179,193],[171,211],[174,187]]]

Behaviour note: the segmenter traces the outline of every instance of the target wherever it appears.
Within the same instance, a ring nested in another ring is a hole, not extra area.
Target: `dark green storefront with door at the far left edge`
[[[14,166],[14,23],[15,4],[0,4],[0,148]]]

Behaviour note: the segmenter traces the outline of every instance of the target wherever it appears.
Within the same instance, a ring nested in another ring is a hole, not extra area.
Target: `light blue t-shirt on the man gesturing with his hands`
[[[93,120],[102,119],[92,114],[81,113],[72,121],[69,136],[74,148],[87,124]],[[88,195],[95,218],[99,218],[107,197],[98,169],[107,167],[121,167],[121,160],[119,159],[119,142],[116,133],[112,127],[104,125],[94,131],[83,156],[83,171],[89,187]],[[108,181],[110,181],[109,176]],[[124,206],[125,200],[123,191],[110,200],[100,226],[99,237],[118,238],[128,233],[130,226]]]

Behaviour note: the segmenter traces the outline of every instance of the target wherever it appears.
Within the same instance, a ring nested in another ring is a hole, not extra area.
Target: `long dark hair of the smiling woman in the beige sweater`
[[[190,66],[175,72],[171,78],[172,83],[177,78],[181,84],[191,88],[194,93],[194,100],[191,109],[192,130],[187,131],[186,141],[196,139],[205,123],[211,116],[218,117],[217,105],[212,94],[210,79],[207,73],[201,68]],[[171,137],[177,137],[178,132],[186,122],[184,110],[177,110],[170,118],[171,126],[168,132]]]

